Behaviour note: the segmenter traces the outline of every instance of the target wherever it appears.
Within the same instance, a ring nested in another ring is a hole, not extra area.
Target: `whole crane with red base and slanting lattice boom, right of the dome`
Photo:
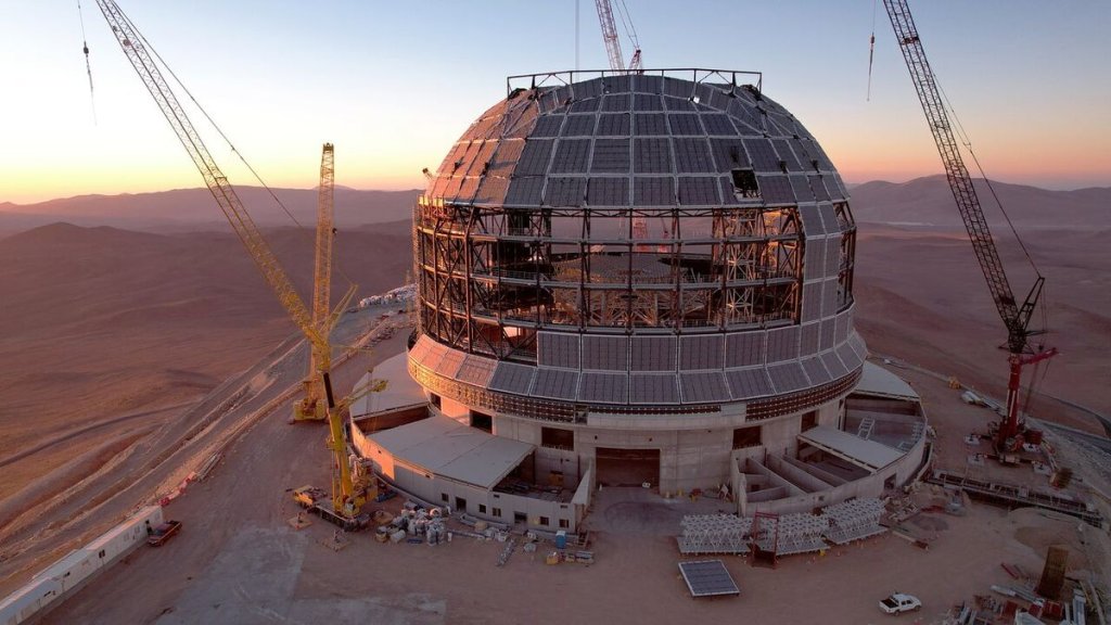
[[[988,288],[999,316],[1002,318],[1003,325],[1007,326],[1007,349],[1010,353],[1008,357],[1010,376],[1007,384],[1007,406],[1002,420],[994,428],[992,436],[997,453],[1003,457],[1004,453],[1021,448],[1024,438],[1040,439],[1040,433],[1028,433],[1024,425],[1020,423],[1019,395],[1022,386],[1022,367],[1041,363],[1058,354],[1055,347],[1045,348],[1042,345],[1033,346],[1030,343],[1031,337],[1044,334],[1044,329],[1030,329],[1030,320],[1038,307],[1045,279],[1038,272],[1025,300],[1020,305],[1014,299],[999,251],[995,249],[995,240],[988,228],[988,220],[972,185],[972,177],[961,158],[957,139],[953,136],[953,127],[949,120],[949,112],[942,100],[933,70],[930,69],[930,63],[925,58],[925,49],[922,47],[918,28],[910,13],[910,6],[907,0],[883,0],[883,6],[891,19],[895,40],[902,50],[903,60],[907,61],[907,69],[910,70],[911,81],[914,83],[922,110],[925,112],[927,123],[938,146],[938,152],[941,155],[945,178],[953,192],[953,199],[957,200],[957,208],[964,221],[964,228],[972,240],[972,249],[975,251],[980,269],[988,281]],[[1034,270],[1037,272],[1037,267]]]

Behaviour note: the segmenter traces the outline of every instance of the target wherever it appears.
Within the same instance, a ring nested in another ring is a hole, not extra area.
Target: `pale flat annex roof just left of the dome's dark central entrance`
[[[486,489],[497,486],[536,449],[440,415],[368,438],[406,463]]]

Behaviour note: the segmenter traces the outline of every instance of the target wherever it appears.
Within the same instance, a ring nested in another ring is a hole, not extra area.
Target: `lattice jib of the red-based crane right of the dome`
[[[995,241],[988,228],[980,199],[972,186],[972,178],[961,159],[952,125],[949,121],[933,71],[925,58],[922,40],[918,36],[918,29],[910,14],[910,7],[905,0],[883,0],[883,6],[888,10],[888,17],[891,18],[891,26],[899,40],[899,48],[907,61],[907,68],[910,70],[911,80],[914,82],[919,101],[922,103],[922,110],[925,112],[930,132],[933,133],[933,140],[938,145],[938,152],[945,167],[949,188],[953,192],[957,208],[964,220],[969,238],[972,240],[972,249],[975,251],[977,260],[979,260],[983,276],[988,280],[988,288],[995,301],[995,308],[1007,325],[1008,347],[1012,354],[1021,353],[1027,345],[1027,324],[1033,310],[1033,300],[1037,299],[1037,294],[1040,291],[1040,278],[1039,284],[1031,290],[1031,297],[1027,298],[1027,302],[1020,311],[1007,280],[999,251],[995,249]]]

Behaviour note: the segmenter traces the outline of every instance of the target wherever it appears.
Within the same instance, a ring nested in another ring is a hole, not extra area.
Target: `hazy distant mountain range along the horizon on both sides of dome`
[[[1059,229],[1111,228],[1111,187],[1054,191],[1023,185],[993,183],[1008,215],[1019,226]],[[260,227],[292,225],[270,194],[238,187],[240,198]],[[407,220],[420,190],[362,191],[336,188],[336,224],[340,230],[368,224]],[[851,187],[853,215],[860,222],[935,230],[962,230],[960,215],[943,176],[908,182],[872,181]],[[1005,227],[991,191],[977,180],[977,192],[995,228]],[[316,224],[316,189],[274,189],[302,225]],[[31,205],[0,204],[0,236],[64,221],[76,226],[111,226],[154,232],[224,230],[227,225],[207,189],[176,189],[120,196],[78,196]]]

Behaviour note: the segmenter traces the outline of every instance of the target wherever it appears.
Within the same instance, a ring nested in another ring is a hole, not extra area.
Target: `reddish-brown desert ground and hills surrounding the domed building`
[[[860,227],[857,324],[873,354],[957,376],[998,397],[1007,365],[1005,353],[997,346],[1005,334],[948,194],[938,178],[873,182],[853,190]],[[372,201],[366,201],[363,215],[399,217],[392,209],[376,211]],[[1048,370],[1038,371],[1040,388],[1111,414],[1105,390],[1111,381],[1111,250],[1101,244],[1111,235],[1111,189],[1007,187],[1004,201],[1013,207],[1011,217],[1047,278],[1051,334],[1045,340],[1062,353]],[[20,219],[79,211],[74,206],[80,202],[37,206]],[[119,215],[98,210],[90,220],[72,219],[83,226],[0,219],[0,231],[11,232],[0,239],[0,292],[8,294],[0,307],[0,594],[51,562],[52,554],[103,528],[91,518],[74,520],[80,510],[73,508],[98,505],[109,496],[90,488],[87,498],[74,495],[67,505],[67,489],[73,484],[99,479],[114,466],[133,465],[136,475],[147,476],[148,465],[161,457],[153,449],[173,436],[192,435],[186,424],[192,428],[211,423],[207,415],[213,410],[231,419],[237,410],[257,409],[300,375],[301,366],[289,364],[296,357],[279,358],[293,349],[292,324],[226,227],[208,218],[140,225],[133,207]],[[311,211],[301,214],[303,222],[311,224]],[[408,224],[373,224],[384,217],[356,219],[347,226],[340,222],[337,266],[360,285],[361,296],[402,284],[411,264]],[[1021,251],[1001,230],[995,232],[1004,261],[1021,267]],[[311,236],[292,228],[269,228],[267,234],[307,292]],[[1013,274],[1012,288],[1020,298],[1031,280],[1024,271]],[[346,284],[338,275],[333,292]],[[369,324],[354,317],[351,323]],[[399,335],[382,344],[374,358],[397,353],[402,340]],[[969,428],[985,423],[982,409],[960,404],[939,380],[908,376],[935,424],[952,430],[964,429],[965,419]],[[346,374],[346,384],[352,377],[357,371]],[[229,378],[234,379],[226,383]],[[243,397],[257,399],[227,410],[198,404],[222,384],[253,388],[256,395],[244,391]],[[272,387],[272,393],[259,390],[262,386]],[[1102,433],[1089,413],[1048,397],[1035,397],[1030,409],[1043,419]],[[238,582],[242,585],[227,591],[230,612],[211,613],[212,619],[236,622],[241,614],[250,622],[268,622],[264,614],[234,609],[277,606],[273,602],[287,602],[281,605],[294,622],[357,614],[374,614],[377,622],[389,623],[682,622],[695,614],[674,578],[673,543],[649,530],[603,533],[598,546],[603,559],[581,571],[552,569],[518,558],[520,554],[507,568],[497,568],[498,547],[471,542],[430,549],[368,540],[337,555],[312,544],[328,532],[319,524],[290,537],[283,519],[293,509],[284,489],[327,479],[327,458],[320,433],[312,426],[290,428],[283,413],[279,409],[254,425],[250,436],[228,448],[210,482],[168,508],[188,524],[180,542],[158,554],[128,558],[51,614],[51,622],[151,622],[160,616],[166,623],[207,621],[201,602],[229,582],[238,563],[247,563],[252,572],[251,563],[261,566],[268,545],[290,563],[296,560],[301,575],[271,579],[259,568],[257,581]],[[240,431],[234,427],[229,426],[229,436]],[[136,488],[121,498],[113,514],[122,514],[127,500],[138,503],[176,478],[170,469],[144,478],[147,490]],[[44,503],[48,517],[29,519],[27,513]],[[113,514],[106,514],[104,523]],[[893,584],[914,587],[931,611],[923,617],[932,619],[950,603],[1002,583],[1001,558],[1034,571],[1052,540],[1084,539],[1074,536],[1075,523],[1029,510],[1008,514],[978,507],[969,517],[941,520],[945,530],[937,526],[942,538],[929,552],[889,536],[822,559],[794,558],[777,572],[753,575],[740,560],[731,560],[729,568],[741,582],[745,614],[753,617],[803,623],[818,616],[813,606],[792,601],[788,585],[778,583],[789,575],[801,579],[798,586],[792,581],[792,592],[842,606],[844,618],[831,622],[879,622],[874,602],[894,589],[889,587]],[[59,527],[64,529],[52,536]],[[39,546],[31,553],[22,548],[31,544]],[[1083,545],[1077,546],[1083,550]],[[18,558],[9,559],[13,555]],[[151,588],[146,601],[128,598],[129,588],[162,571],[164,582]],[[473,586],[459,584],[467,577],[474,579]],[[276,588],[270,594],[261,589],[268,585]],[[598,593],[599,587],[607,592]],[[503,591],[500,599],[498,588]],[[337,595],[343,601],[334,599]],[[649,597],[659,601],[645,601]],[[761,607],[763,602],[788,607],[774,612]],[[699,618],[725,618],[738,604],[718,599],[697,606]]]

